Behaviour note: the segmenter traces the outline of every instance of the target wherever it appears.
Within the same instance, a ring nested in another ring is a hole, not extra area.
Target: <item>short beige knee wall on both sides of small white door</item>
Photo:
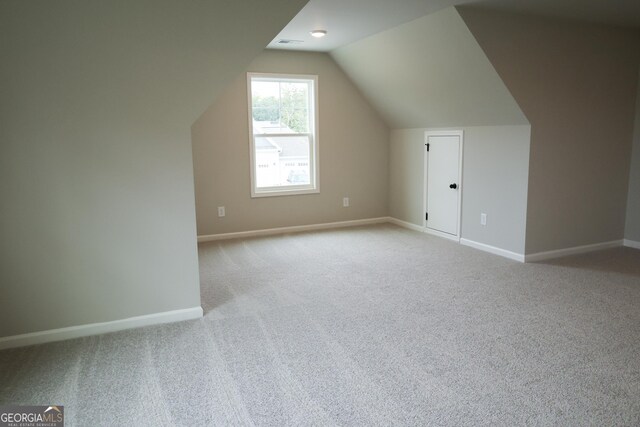
[[[524,254],[530,127],[458,129],[464,131],[461,237]],[[420,226],[425,130],[393,130],[390,146],[391,216]],[[486,226],[480,225],[480,213],[487,214]]]

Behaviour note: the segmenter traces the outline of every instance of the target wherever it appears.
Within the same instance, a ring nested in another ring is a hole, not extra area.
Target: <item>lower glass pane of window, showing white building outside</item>
[[[311,184],[309,137],[256,137],[256,187]]]

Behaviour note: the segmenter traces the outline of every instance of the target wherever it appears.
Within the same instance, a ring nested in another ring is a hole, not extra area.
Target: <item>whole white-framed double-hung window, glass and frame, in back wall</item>
[[[317,193],[317,76],[247,74],[251,197]]]

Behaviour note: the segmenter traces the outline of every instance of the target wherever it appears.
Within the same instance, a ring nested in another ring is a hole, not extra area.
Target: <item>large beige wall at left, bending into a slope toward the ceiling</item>
[[[303,4],[0,2],[0,337],[200,305],[190,126]]]

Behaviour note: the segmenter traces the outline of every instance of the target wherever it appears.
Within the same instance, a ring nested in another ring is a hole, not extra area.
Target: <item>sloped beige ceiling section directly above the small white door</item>
[[[331,56],[391,128],[528,124],[453,7]]]

